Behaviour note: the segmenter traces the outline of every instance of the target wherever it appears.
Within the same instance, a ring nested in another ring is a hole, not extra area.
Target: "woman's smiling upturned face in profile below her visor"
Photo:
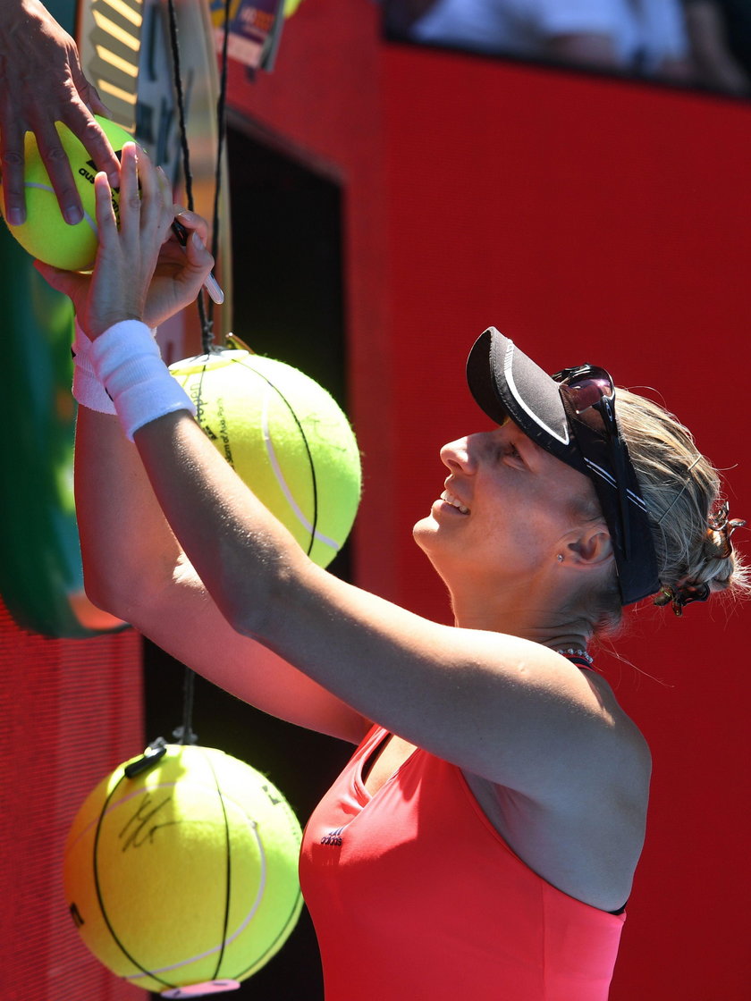
[[[589,478],[512,421],[444,445],[441,458],[445,490],[414,535],[450,590],[534,579],[599,511]]]

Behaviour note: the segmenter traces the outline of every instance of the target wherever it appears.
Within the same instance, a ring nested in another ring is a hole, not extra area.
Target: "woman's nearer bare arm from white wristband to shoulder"
[[[640,767],[641,739],[615,700],[554,651],[429,622],[316,567],[185,411],[134,438],[227,622],[362,718],[540,799],[602,791],[613,761],[626,778],[629,746]]]

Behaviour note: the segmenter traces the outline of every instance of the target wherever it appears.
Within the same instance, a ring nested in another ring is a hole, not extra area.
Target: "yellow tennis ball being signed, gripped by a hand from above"
[[[125,129],[106,118],[95,116],[119,159],[123,144],[133,137]],[[83,144],[73,135],[67,125],[55,122],[60,142],[70,161],[73,177],[81,196],[83,219],[69,226],[63,218],[57,195],[50,184],[49,174],[39,155],[39,147],[33,132],[27,132],[24,140],[26,157],[26,221],[20,226],[8,225],[8,229],[18,242],[34,257],[64,268],[66,271],[81,271],[91,267],[96,257],[97,227],[96,203],[94,199],[94,175],[96,166]],[[3,217],[5,217],[5,193],[0,185]],[[117,192],[113,192],[112,204],[119,218]]]

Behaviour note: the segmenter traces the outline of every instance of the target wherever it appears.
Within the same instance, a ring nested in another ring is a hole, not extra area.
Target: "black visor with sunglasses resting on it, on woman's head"
[[[511,417],[547,451],[592,480],[613,541],[623,605],[660,590],[647,507],[616,420],[616,389],[604,368],[549,375],[495,327],[467,362],[473,396],[497,423]]]

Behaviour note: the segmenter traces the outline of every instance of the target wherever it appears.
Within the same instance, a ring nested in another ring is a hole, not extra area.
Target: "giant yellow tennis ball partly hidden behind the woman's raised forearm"
[[[357,442],[335,400],[297,368],[238,348],[169,370],[235,472],[326,567],[352,527],[361,475]]]

